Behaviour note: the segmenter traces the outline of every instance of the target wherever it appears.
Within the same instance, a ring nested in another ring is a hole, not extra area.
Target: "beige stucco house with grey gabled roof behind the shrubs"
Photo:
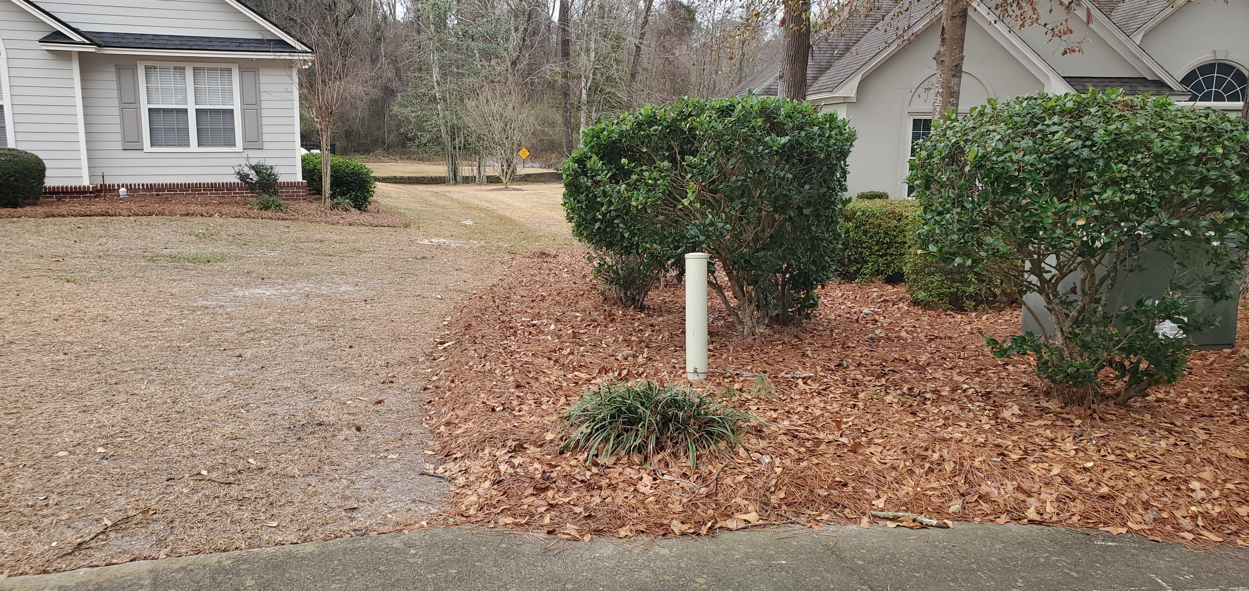
[[[1249,71],[1249,0],[1100,0],[1068,11],[1039,0],[1040,24],[1023,29],[973,0],[959,110],[989,97],[1074,92],[1089,86],[1169,94],[1178,104],[1239,110]],[[1054,39],[1044,24],[1072,32]],[[858,131],[849,194],[908,195],[911,144],[932,129],[939,5],[884,0],[814,44],[807,99]],[[1073,51],[1073,47],[1078,50]],[[778,66],[734,94],[776,95]]]

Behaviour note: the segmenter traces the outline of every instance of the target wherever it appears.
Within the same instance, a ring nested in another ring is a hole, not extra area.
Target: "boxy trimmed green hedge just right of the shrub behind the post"
[[[862,194],[859,194],[862,195]],[[837,275],[843,281],[902,282],[907,252],[914,250],[919,204],[911,200],[854,200],[846,206]]]

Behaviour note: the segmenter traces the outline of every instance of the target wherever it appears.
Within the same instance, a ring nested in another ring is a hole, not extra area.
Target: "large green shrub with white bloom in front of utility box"
[[[916,150],[909,182],[924,204],[923,250],[949,267],[1020,261],[1053,319],[1053,340],[987,336],[993,354],[1035,355],[1054,394],[1089,404],[1184,376],[1187,335],[1217,320],[1194,302],[1235,297],[1244,276],[1233,237],[1249,220],[1245,179],[1249,121],[1110,90],[990,100],[945,119]],[[1147,247],[1183,250],[1203,272],[1177,272],[1164,297],[1108,305]],[[1103,391],[1103,371],[1117,392]]]

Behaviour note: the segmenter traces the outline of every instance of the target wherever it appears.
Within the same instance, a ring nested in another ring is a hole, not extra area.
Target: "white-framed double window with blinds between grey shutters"
[[[235,65],[141,64],[144,130],[151,150],[236,150],[239,69]]]

